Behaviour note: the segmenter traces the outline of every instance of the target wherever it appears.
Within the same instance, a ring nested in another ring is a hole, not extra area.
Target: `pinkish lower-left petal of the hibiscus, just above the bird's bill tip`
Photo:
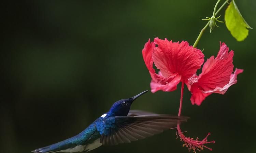
[[[162,75],[160,71],[158,74]],[[150,83],[151,92],[155,93],[158,90],[170,92],[170,91],[176,90],[177,84],[179,84],[180,81],[181,81],[181,75],[177,75],[171,82],[169,82],[166,85],[161,85],[160,83],[157,83],[154,80],[151,80],[151,83]]]

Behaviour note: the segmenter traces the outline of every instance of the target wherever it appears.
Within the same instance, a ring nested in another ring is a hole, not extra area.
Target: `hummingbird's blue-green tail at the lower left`
[[[33,152],[33,153],[55,153],[55,152],[59,152],[61,150],[74,148],[75,146],[76,145],[74,145],[72,143],[67,143],[67,141],[64,140],[64,141],[55,143],[53,145],[49,145],[49,146],[46,146],[46,147],[35,149],[31,152]]]

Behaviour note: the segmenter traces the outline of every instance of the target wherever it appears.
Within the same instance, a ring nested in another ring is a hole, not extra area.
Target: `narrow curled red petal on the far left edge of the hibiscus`
[[[174,73],[173,75],[170,75],[168,77],[163,77],[162,75],[156,74],[155,69],[153,69],[153,58],[152,58],[152,53],[154,51],[155,44],[154,42],[150,43],[150,39],[148,39],[148,42],[145,44],[143,50],[142,50],[142,56],[145,62],[145,65],[150,72],[151,78],[155,82],[160,82],[162,85],[167,84],[170,82],[172,79],[174,79],[177,75],[177,73]]]

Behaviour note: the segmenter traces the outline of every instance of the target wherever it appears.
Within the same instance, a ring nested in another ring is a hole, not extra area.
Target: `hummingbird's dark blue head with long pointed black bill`
[[[131,108],[132,102],[140,97],[141,95],[145,94],[148,90],[141,92],[140,94],[133,96],[128,99],[121,99],[115,102],[109,112],[107,113],[108,116],[126,116]]]

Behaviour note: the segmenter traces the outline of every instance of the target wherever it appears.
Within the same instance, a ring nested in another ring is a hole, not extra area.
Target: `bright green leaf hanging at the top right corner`
[[[243,41],[248,36],[249,30],[247,28],[253,29],[244,20],[234,0],[227,7],[224,18],[228,30],[237,41]]]

